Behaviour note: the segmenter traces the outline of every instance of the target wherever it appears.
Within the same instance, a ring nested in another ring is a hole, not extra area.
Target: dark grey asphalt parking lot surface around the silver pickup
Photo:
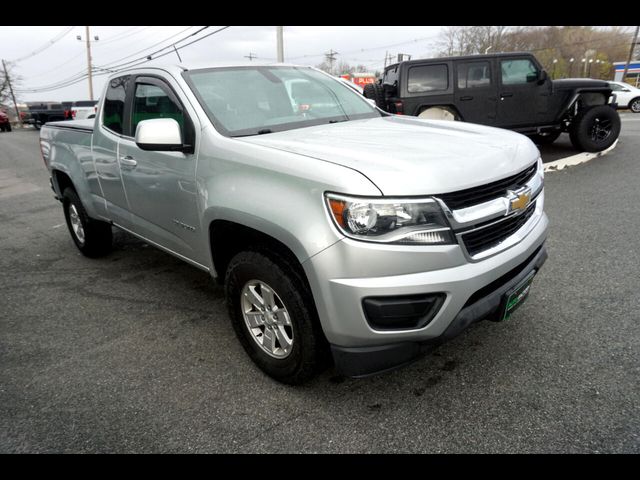
[[[37,132],[0,134],[0,452],[639,453],[639,149],[626,114],[615,150],[547,174],[549,259],[512,320],[289,387],[206,273],[121,232],[80,255]]]

